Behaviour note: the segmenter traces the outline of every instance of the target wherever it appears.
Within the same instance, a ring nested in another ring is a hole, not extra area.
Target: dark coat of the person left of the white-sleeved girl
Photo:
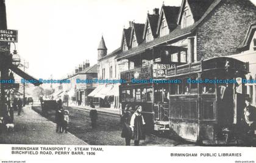
[[[129,127],[130,124],[130,118],[132,117],[132,114],[130,112],[126,112],[123,114],[121,117],[121,123],[123,125],[121,137],[126,137],[126,138],[132,138],[132,128]]]

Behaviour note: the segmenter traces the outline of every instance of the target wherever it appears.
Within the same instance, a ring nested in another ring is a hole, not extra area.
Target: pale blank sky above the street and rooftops
[[[181,2],[165,0],[164,4]],[[91,66],[97,63],[102,35],[108,53],[120,47],[129,21],[145,23],[147,13],[161,9],[163,1],[6,0],[5,4],[8,29],[18,30],[16,50],[29,62],[26,72],[36,78],[59,79],[85,60]]]

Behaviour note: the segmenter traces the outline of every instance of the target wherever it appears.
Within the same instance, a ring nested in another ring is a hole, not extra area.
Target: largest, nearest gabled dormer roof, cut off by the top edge
[[[186,1],[188,1],[188,5],[190,6],[194,21],[198,21],[204,15],[205,11],[210,7],[214,0],[182,0],[182,5],[180,7],[177,20],[178,24],[181,22]]]

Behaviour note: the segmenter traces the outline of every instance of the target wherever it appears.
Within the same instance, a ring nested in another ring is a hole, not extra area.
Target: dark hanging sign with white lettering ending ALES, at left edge
[[[18,30],[1,29],[0,30],[0,41],[4,42],[18,42]]]

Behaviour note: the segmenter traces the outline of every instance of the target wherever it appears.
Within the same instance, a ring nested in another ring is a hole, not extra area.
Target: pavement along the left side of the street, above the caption
[[[14,130],[0,133],[0,144],[88,145],[71,133],[56,133],[56,124],[25,106],[14,115]]]

